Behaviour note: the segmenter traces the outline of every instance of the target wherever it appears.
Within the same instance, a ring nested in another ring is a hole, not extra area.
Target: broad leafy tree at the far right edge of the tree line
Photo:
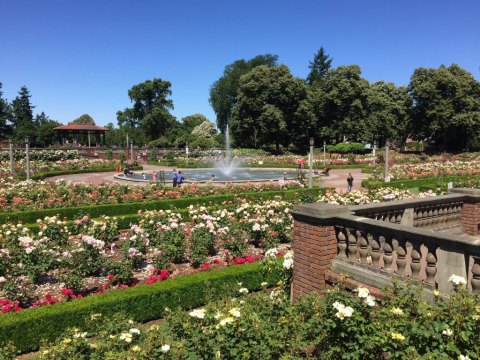
[[[471,73],[456,64],[418,68],[408,90],[417,139],[430,139],[438,150],[479,147],[480,82]]]

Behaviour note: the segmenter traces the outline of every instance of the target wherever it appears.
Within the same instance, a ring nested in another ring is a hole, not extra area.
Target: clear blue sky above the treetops
[[[323,46],[333,66],[406,85],[415,68],[457,63],[480,78],[479,0],[0,0],[0,82],[35,112],[115,125],[132,85],[172,83],[173,114],[213,122],[225,65],[277,54],[298,77]]]

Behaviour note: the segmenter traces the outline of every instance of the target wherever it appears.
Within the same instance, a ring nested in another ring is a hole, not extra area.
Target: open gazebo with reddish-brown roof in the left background
[[[53,130],[58,133],[60,142],[63,145],[69,144],[69,141],[71,141],[73,146],[88,147],[91,147],[92,140],[95,146],[105,144],[105,134],[108,131],[108,129],[103,126],[75,122],[71,122],[68,125],[57,126],[53,128]]]

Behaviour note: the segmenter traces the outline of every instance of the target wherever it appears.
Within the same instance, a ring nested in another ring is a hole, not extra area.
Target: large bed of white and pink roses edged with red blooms
[[[291,241],[288,206],[283,201],[259,204],[245,199],[220,210],[191,206],[189,223],[170,210],[146,211],[120,236],[114,217],[83,216],[71,226],[47,217],[37,221],[37,234],[21,224],[4,224],[0,300],[8,303],[2,312],[51,303],[63,298],[62,289],[85,295],[113,285],[156,281],[155,269],[168,269],[176,277],[192,267],[208,270],[253,262],[264,249]]]

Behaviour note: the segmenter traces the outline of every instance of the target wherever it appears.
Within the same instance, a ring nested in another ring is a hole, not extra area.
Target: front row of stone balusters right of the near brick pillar
[[[424,211],[423,209],[421,211]],[[428,212],[433,210],[428,209]],[[453,219],[455,210],[445,214]],[[335,219],[338,254],[336,268],[347,270],[361,281],[382,278],[410,278],[429,289],[448,293],[452,274],[464,276],[474,293],[480,293],[480,240],[444,236],[417,228],[379,222],[358,221],[354,215]],[[349,265],[340,266],[339,263]],[[463,265],[462,265],[463,264]],[[335,268],[335,266],[334,266]],[[363,271],[363,274],[359,274]],[[440,275],[440,276],[439,276]]]

